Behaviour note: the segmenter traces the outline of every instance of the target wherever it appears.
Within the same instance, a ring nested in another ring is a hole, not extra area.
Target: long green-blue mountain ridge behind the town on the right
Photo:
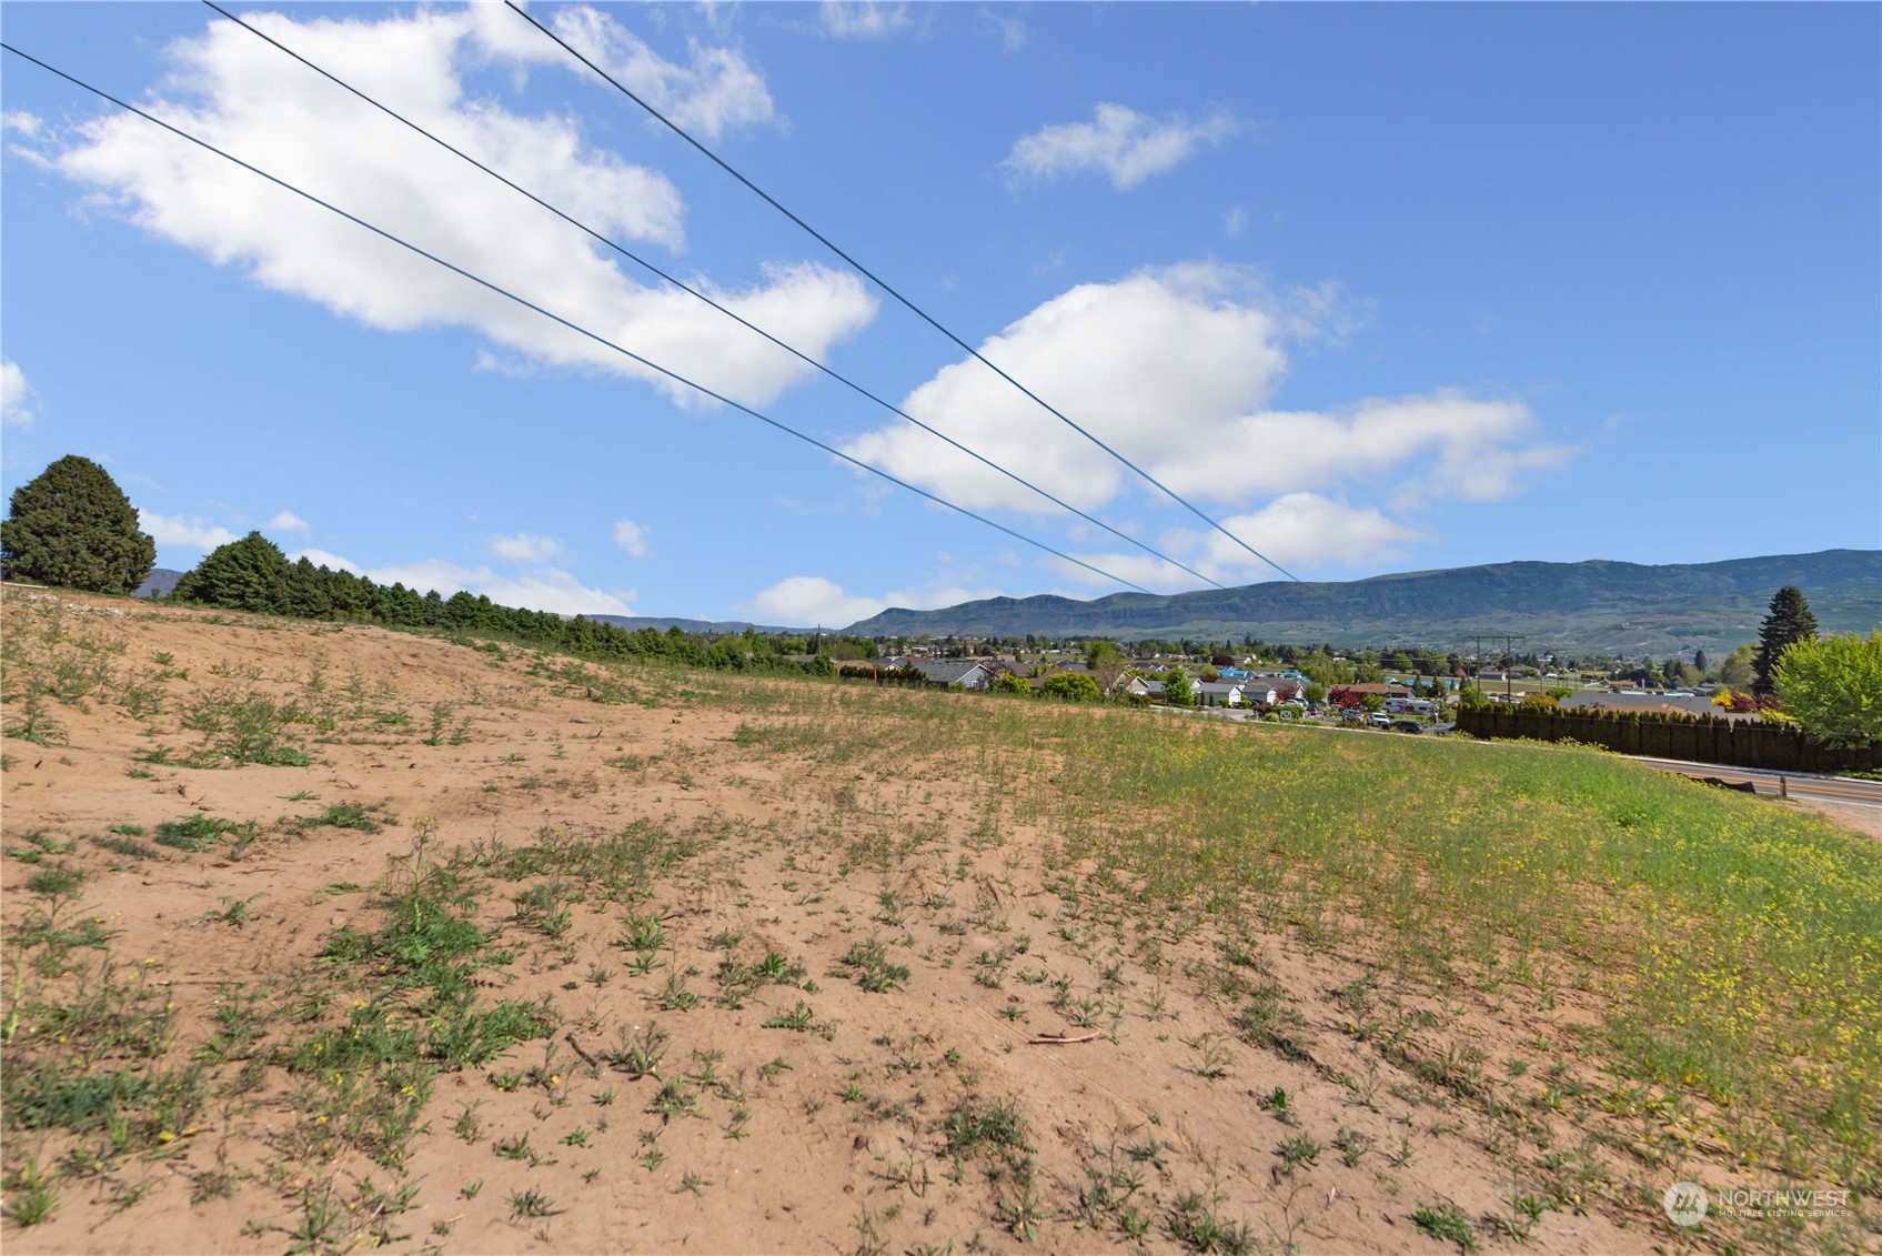
[[[1824,550],[1643,565],[1487,563],[1368,580],[1270,580],[1157,597],[1112,593],[990,597],[941,610],[890,608],[845,633],[858,636],[1114,636],[1455,648],[1475,635],[1519,635],[1530,650],[1671,652],[1758,635],[1771,593],[1795,584],[1826,631],[1882,623],[1882,550]]]

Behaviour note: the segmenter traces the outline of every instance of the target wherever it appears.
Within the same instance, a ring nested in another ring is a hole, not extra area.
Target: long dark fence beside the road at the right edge
[[[1792,725],[1666,716],[1658,712],[1573,712],[1536,706],[1464,706],[1457,727],[1472,736],[1587,742],[1622,755],[1724,763],[1773,772],[1882,770],[1882,742],[1854,749],[1818,746]]]

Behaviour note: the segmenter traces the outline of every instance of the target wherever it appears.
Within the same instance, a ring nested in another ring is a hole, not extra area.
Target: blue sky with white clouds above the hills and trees
[[[1274,578],[502,6],[237,11],[1080,510]],[[1878,544],[1876,6],[531,11],[1300,576]],[[0,28],[871,465],[1197,584],[207,8],[0,4]],[[826,625],[1122,588],[0,75],[0,480],[96,458],[166,567],[258,527],[440,591]]]

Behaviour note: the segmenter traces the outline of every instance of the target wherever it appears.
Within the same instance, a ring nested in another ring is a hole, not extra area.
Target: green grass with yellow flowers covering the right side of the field
[[[1737,1156],[1882,1184],[1882,845],[1824,819],[1581,748],[694,684],[742,712],[749,753],[967,765],[1050,834],[1061,896],[1148,926],[1295,934],[1538,1011],[1592,990],[1603,1068],[1730,1105]],[[1299,1015],[1248,989],[1244,1039],[1295,1051]]]

